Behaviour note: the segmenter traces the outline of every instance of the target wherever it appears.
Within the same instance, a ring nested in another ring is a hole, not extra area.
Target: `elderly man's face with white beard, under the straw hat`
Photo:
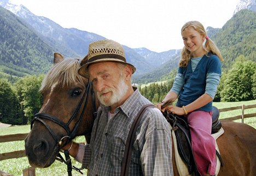
[[[123,101],[128,90],[123,67],[115,62],[94,63],[89,66],[89,73],[97,98],[103,105],[118,105]]]

